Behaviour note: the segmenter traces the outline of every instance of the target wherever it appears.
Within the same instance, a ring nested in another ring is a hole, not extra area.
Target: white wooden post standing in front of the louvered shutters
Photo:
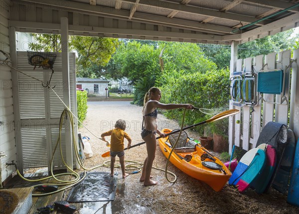
[[[63,81],[63,102],[70,108],[70,68],[69,68],[69,47],[68,47],[68,18],[61,17],[61,58],[62,58],[62,81]],[[73,154],[72,154],[72,130],[70,126],[69,117],[65,119],[65,148],[66,148],[66,162],[68,166],[73,169]]]

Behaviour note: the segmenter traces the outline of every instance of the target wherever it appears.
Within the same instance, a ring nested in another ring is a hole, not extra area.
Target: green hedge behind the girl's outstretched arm
[[[229,71],[226,69],[211,70],[206,73],[181,74],[178,78],[167,81],[169,84],[160,87],[162,103],[190,103],[198,108],[215,110],[223,108],[229,102],[227,94]],[[183,109],[169,110],[165,112],[165,115],[181,123]],[[211,118],[211,116],[196,110],[186,111],[185,124],[198,123]],[[201,128],[198,127],[198,129]]]

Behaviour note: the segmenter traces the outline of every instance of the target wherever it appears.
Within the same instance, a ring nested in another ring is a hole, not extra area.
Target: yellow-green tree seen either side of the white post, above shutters
[[[37,42],[29,43],[33,51],[60,52],[61,36],[56,34],[36,34]],[[103,75],[103,67],[116,51],[119,40],[115,38],[70,36],[69,49],[76,51],[77,75],[81,77],[99,78]]]

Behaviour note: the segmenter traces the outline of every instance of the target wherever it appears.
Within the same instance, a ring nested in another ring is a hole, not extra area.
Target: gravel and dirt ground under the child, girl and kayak
[[[132,138],[132,145],[143,142],[141,138],[142,107],[125,102],[88,102],[87,119],[84,125],[96,136],[114,128],[118,119],[127,121],[126,132]],[[177,129],[179,125],[172,120],[158,114],[158,128]],[[101,155],[109,148],[105,143],[93,136],[85,128],[80,128],[82,136],[90,137],[93,157],[86,159],[86,168],[102,165],[110,158]],[[198,139],[199,136],[187,130],[188,136]],[[107,138],[108,139],[108,138]],[[127,141],[125,141],[127,145]],[[219,158],[219,154],[216,154]],[[143,163],[147,156],[146,146],[141,145],[125,152],[125,160]],[[127,163],[129,164],[129,163]],[[166,158],[157,144],[154,167],[165,169]],[[172,164],[168,170],[177,176],[174,184],[165,179],[164,172],[152,170],[156,186],[145,187],[139,181],[141,173],[131,174],[125,179],[121,177],[120,169],[115,200],[110,203],[110,211],[99,213],[112,214],[295,214],[299,208],[287,204],[287,197],[271,189],[267,194],[258,195],[254,190],[240,194],[234,187],[226,184],[222,191],[215,192],[208,185],[184,174]],[[109,168],[100,167],[96,171],[109,172]],[[172,180],[172,177],[169,177]],[[91,205],[92,206],[92,205]],[[107,204],[103,204],[107,206]],[[102,207],[103,207],[102,206]],[[80,213],[84,213],[83,210]],[[89,213],[86,211],[85,213]],[[95,212],[90,212],[95,213]]]

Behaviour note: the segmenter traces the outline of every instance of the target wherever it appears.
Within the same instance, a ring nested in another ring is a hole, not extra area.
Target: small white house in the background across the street
[[[108,90],[109,80],[104,79],[91,79],[87,77],[77,77],[76,86],[79,89],[84,89],[88,95],[93,94],[97,97],[105,97],[106,89]]]

